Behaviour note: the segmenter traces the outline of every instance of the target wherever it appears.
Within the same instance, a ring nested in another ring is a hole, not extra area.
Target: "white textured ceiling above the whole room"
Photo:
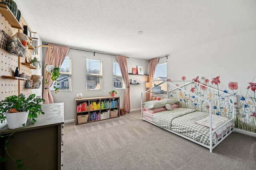
[[[256,0],[14,1],[43,42],[141,59],[256,28]]]

